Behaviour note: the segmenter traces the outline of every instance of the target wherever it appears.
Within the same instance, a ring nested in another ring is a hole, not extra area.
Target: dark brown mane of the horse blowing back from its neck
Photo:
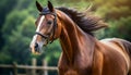
[[[78,12],[74,9],[63,7],[57,9],[64,12],[70,18],[72,18],[73,22],[78,24],[80,28],[82,28],[85,33],[90,35],[93,35],[94,30],[107,27],[107,24],[104,23],[102,18],[88,14],[90,12],[88,13]]]

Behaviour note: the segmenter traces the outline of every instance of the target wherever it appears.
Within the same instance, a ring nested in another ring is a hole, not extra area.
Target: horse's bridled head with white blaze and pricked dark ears
[[[48,1],[48,7],[43,8],[37,1],[36,7],[40,12],[36,20],[36,33],[31,42],[31,50],[33,53],[39,53],[43,46],[52,42],[58,38],[60,28],[58,27],[57,12],[51,2]],[[59,29],[59,30],[57,30]]]

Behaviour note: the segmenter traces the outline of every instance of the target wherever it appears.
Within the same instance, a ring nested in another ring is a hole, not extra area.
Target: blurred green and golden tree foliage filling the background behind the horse
[[[41,59],[48,65],[56,65],[61,52],[59,41],[45,48],[41,55],[29,53],[29,42],[35,33],[35,20],[38,11],[36,0],[1,0],[0,1],[0,64],[31,64],[32,58]],[[47,0],[38,0],[44,7]],[[108,23],[109,28],[96,32],[96,37],[118,37],[131,41],[131,1],[130,0],[50,0],[55,7],[76,8],[85,11],[92,4],[94,15],[100,16]],[[0,75],[4,70],[1,70]],[[7,72],[7,75],[8,72]],[[51,74],[52,75],[52,74]],[[53,75],[56,75],[53,73]]]

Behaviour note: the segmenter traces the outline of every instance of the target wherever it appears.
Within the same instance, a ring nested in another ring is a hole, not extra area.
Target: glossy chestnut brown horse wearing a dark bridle
[[[36,1],[39,16],[31,42],[32,53],[59,39],[62,52],[59,75],[131,75],[131,42],[120,38],[98,40],[94,32],[107,24],[93,14],[69,8],[43,8]]]

